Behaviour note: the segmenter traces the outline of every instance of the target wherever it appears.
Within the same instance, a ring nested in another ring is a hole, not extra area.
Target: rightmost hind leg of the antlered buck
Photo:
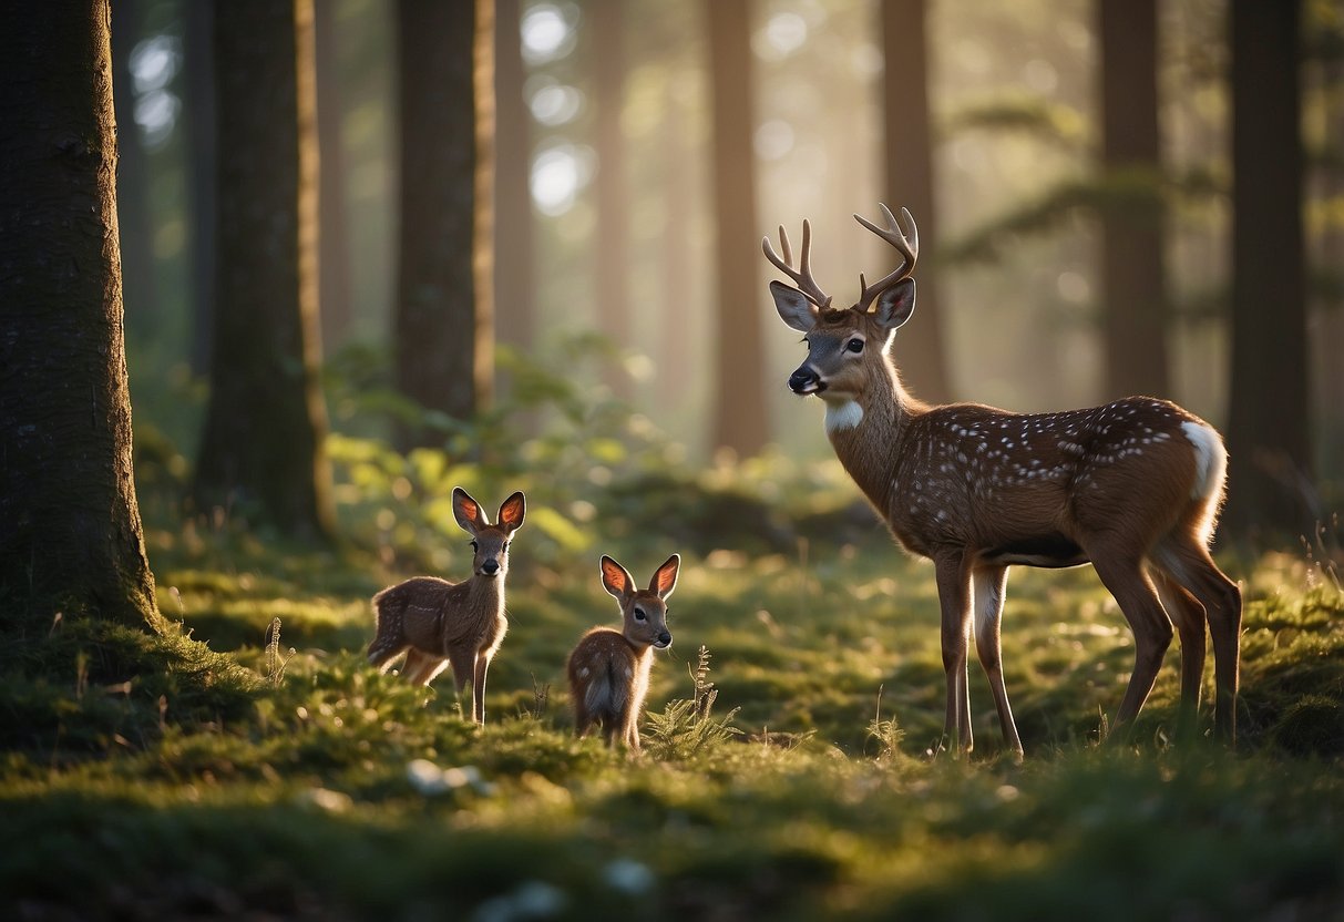
[[[1236,742],[1236,691],[1241,684],[1242,590],[1218,569],[1208,548],[1191,539],[1169,542],[1159,548],[1161,566],[1184,586],[1208,620],[1214,641],[1214,681],[1218,703],[1214,731],[1227,743]]]

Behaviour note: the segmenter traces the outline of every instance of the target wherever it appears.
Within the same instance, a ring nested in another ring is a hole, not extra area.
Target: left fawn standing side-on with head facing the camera
[[[453,517],[472,536],[472,578],[453,583],[438,577],[414,577],[374,597],[370,664],[387,672],[406,653],[402,675],[413,685],[429,685],[452,665],[458,699],[472,685],[472,720],[480,726],[485,724],[485,672],[508,630],[504,616],[508,548],[526,512],[523,493],[513,493],[500,505],[492,526],[480,503],[456,487]]]

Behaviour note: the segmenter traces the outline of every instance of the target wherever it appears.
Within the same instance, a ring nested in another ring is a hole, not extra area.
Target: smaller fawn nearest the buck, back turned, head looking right
[[[676,589],[681,558],[673,554],[657,569],[648,589],[636,589],[629,571],[602,555],[602,586],[621,605],[621,630],[593,628],[570,653],[570,698],[574,702],[574,732],[587,734],[602,724],[606,745],[617,737],[640,751],[640,714],[649,691],[653,648],[667,649],[667,597]]]

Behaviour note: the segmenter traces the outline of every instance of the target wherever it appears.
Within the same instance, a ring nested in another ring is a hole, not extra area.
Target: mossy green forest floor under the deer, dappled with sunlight
[[[954,761],[931,569],[847,487],[784,520],[743,497],[751,472],[598,508],[538,487],[476,730],[448,675],[414,689],[363,657],[372,593],[461,578],[466,536],[423,470],[345,464],[364,550],[153,524],[173,516],[149,500],[168,653],[71,621],[0,656],[0,915],[1344,918],[1344,593],[1322,558],[1223,560],[1246,594],[1235,753],[1173,741],[1175,642],[1130,742],[1099,746],[1124,618],[1090,569],[1015,569],[1027,757],[973,663]],[[492,515],[507,492],[469,488]],[[617,621],[602,551],[640,581],[683,554],[640,758],[573,738],[566,656]],[[1212,657],[1204,688],[1207,731]]]

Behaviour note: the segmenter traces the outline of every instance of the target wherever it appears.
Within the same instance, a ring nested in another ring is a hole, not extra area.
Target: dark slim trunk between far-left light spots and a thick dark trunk
[[[218,288],[215,228],[215,12],[214,0],[188,3],[183,11],[183,108],[187,141],[187,199],[191,223],[191,368],[210,371]]]

